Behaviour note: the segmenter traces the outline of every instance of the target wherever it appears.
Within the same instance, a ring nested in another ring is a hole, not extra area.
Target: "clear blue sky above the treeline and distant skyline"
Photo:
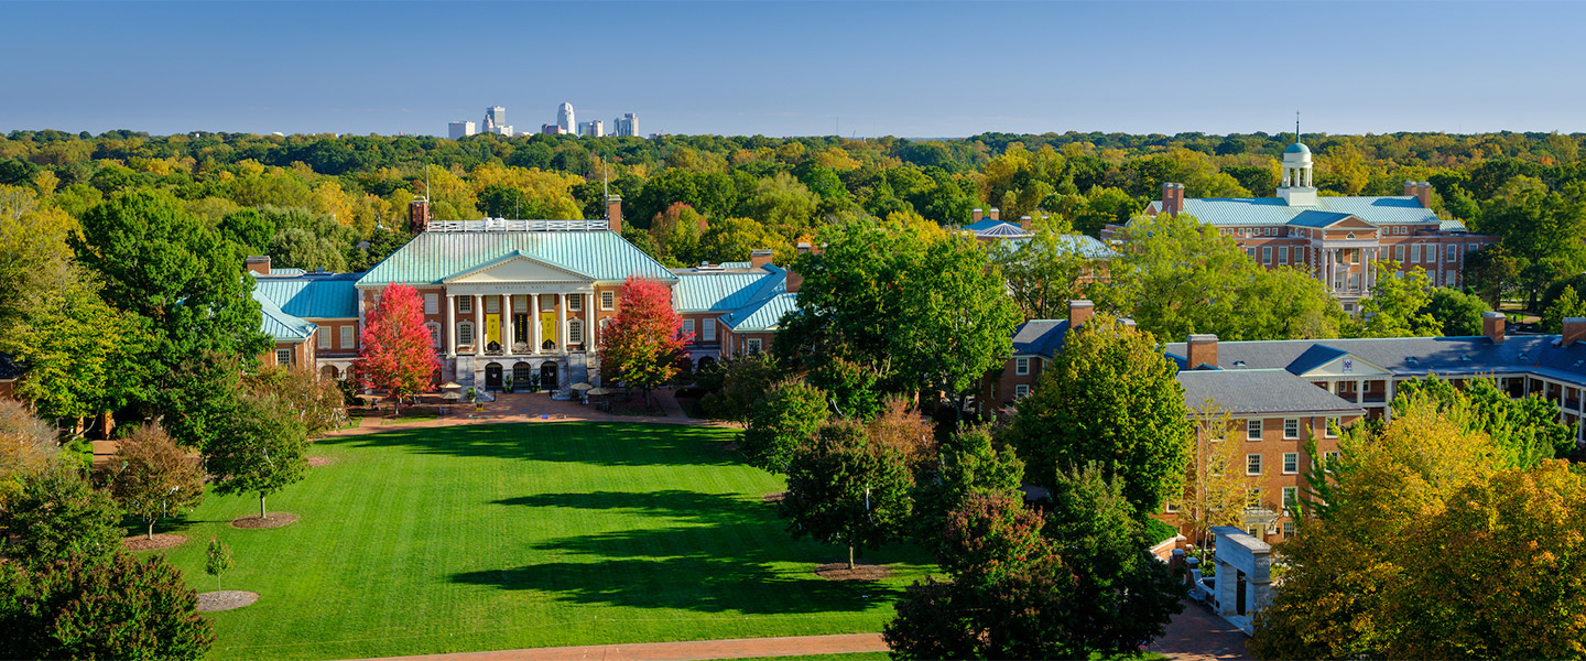
[[[1586,132],[1586,3],[0,2],[0,132]]]

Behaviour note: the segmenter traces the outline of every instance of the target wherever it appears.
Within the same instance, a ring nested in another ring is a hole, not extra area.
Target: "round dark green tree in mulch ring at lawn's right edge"
[[[914,476],[902,453],[869,441],[864,426],[842,420],[822,426],[788,463],[788,493],[777,512],[795,537],[814,537],[855,550],[902,534],[914,501]]]

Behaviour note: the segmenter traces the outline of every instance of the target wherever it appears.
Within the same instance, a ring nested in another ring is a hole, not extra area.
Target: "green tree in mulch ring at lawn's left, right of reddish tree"
[[[265,496],[308,471],[308,444],[306,426],[279,398],[239,395],[227,428],[205,445],[205,469],[219,493],[257,493],[265,518]]]

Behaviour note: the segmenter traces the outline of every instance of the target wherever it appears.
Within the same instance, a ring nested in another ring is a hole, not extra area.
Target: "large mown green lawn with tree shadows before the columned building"
[[[793,542],[761,495],[782,479],[720,449],[731,430],[469,425],[320,441],[333,458],[270,498],[301,520],[233,529],[257,498],[211,495],[170,552],[214,590],[203,548],[236,555],[216,658],[352,658],[542,645],[880,631],[933,566],[872,553],[885,583],[833,583],[842,550]]]

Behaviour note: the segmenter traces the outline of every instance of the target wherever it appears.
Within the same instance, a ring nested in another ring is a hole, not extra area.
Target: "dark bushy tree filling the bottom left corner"
[[[40,659],[200,659],[214,626],[182,574],[154,556],[0,563],[0,650]]]

